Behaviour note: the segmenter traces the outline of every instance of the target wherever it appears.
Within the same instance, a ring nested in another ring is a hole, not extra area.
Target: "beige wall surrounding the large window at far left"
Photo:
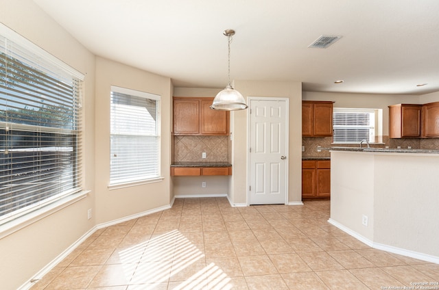
[[[91,193],[16,232],[0,235],[1,289],[17,289],[95,225],[95,57],[31,0],[0,0],[0,21],[76,70],[86,74],[84,103],[84,188]]]

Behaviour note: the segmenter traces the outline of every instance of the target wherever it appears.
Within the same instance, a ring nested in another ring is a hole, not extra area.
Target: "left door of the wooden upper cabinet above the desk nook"
[[[200,101],[174,99],[174,135],[200,133]]]

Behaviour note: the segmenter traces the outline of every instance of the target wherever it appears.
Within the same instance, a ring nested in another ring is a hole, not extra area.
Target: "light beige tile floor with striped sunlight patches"
[[[226,198],[177,199],[169,210],[97,230],[32,290],[404,289],[439,281],[438,264],[372,249],[331,226],[329,208],[329,200],[232,208]]]

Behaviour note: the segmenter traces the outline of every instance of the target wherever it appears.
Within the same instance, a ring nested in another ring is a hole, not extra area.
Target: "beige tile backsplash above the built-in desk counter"
[[[175,162],[227,162],[229,136],[175,136]],[[206,158],[202,158],[202,153]]]

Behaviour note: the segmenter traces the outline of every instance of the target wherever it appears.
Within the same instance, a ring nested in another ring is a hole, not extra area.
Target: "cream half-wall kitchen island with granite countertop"
[[[364,243],[439,263],[439,150],[331,152],[329,222]]]

